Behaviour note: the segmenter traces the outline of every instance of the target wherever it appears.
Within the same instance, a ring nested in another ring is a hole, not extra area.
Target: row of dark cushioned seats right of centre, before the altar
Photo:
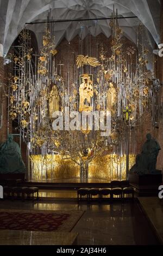
[[[134,188],[133,187],[114,187],[114,188],[79,188],[78,190],[78,200],[82,199],[82,196],[87,196],[87,200],[91,200],[93,196],[98,196],[98,199],[102,200],[103,196],[110,196],[110,199],[115,196],[120,196],[124,198],[125,195],[131,194],[134,198]]]

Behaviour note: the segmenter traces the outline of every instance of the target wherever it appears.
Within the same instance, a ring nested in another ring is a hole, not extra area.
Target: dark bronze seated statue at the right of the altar
[[[150,133],[148,133],[146,137],[147,141],[142,146],[141,154],[136,156],[136,163],[130,169],[131,173],[140,175],[156,173],[156,161],[161,148]]]

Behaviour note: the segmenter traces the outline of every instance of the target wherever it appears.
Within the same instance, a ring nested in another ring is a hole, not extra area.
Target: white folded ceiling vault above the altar
[[[135,19],[120,19],[124,34],[135,41],[135,26],[140,20],[149,31],[149,38],[159,44],[160,1],[159,0],[0,0],[0,44],[3,55],[9,51],[12,42],[21,32],[26,22],[46,21],[49,10],[54,20],[78,20],[110,17],[118,9],[120,16],[137,16]],[[103,33],[110,36],[109,20],[55,23],[55,42],[62,38],[71,41],[74,36]],[[41,42],[45,24],[27,25]],[[89,29],[86,27],[89,27]],[[95,32],[96,31],[96,32]],[[151,40],[151,44],[152,44]]]

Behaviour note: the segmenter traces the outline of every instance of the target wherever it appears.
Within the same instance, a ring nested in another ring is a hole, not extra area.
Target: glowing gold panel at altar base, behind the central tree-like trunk
[[[80,177],[80,167],[70,159],[60,155],[31,155],[32,179],[72,179]],[[129,169],[135,163],[135,155],[129,155]],[[126,155],[97,156],[89,164],[89,178],[126,179]]]

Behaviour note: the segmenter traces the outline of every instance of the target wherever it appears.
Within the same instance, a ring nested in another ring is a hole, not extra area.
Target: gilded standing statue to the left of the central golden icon
[[[54,84],[52,90],[49,94],[49,118],[52,118],[52,115],[55,111],[59,111],[59,92],[57,86]]]

